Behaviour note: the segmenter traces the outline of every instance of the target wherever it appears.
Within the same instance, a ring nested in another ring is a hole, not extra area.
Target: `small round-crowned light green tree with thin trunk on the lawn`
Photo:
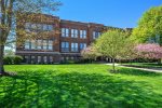
[[[108,30],[96,40],[96,49],[102,55],[112,58],[112,68],[114,69],[114,60],[119,57],[126,57],[129,54],[127,33],[122,30]]]

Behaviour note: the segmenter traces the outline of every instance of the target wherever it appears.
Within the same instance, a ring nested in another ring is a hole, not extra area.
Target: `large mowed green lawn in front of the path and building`
[[[106,65],[9,65],[2,108],[162,108],[162,73]]]

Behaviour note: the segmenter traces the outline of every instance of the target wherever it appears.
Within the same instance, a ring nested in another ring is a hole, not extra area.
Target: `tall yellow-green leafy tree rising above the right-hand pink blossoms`
[[[160,38],[158,42],[162,45],[162,5],[153,6],[145,12],[132,35],[132,39],[137,43],[147,42],[156,37]]]

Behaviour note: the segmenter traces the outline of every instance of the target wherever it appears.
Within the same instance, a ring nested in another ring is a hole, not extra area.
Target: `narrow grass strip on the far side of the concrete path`
[[[129,66],[136,66],[136,67],[141,67],[141,68],[161,68],[162,69],[162,64],[157,64],[157,63],[127,63],[127,64],[122,64],[122,65],[129,65]]]

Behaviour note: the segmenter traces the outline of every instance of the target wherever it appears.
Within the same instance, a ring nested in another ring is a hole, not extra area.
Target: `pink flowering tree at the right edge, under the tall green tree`
[[[138,44],[135,46],[135,51],[138,57],[148,59],[161,59],[162,58],[162,46],[159,44],[147,43]]]

